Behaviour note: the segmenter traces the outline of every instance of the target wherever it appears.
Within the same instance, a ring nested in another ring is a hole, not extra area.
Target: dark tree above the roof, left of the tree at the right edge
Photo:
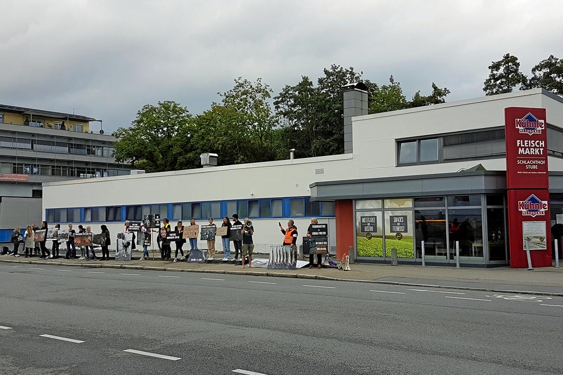
[[[512,92],[518,85],[525,86],[528,78],[520,71],[518,57],[507,53],[502,60],[492,61],[489,65],[489,78],[485,79],[483,91],[485,95]]]

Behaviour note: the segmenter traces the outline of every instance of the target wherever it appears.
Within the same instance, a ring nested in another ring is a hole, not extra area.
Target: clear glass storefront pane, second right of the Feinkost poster
[[[459,256],[483,256],[481,208],[448,210],[450,259],[455,259],[455,242],[459,241]]]

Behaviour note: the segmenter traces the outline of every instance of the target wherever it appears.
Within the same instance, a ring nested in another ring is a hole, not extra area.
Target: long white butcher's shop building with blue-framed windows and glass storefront
[[[395,247],[417,263],[425,241],[427,262],[455,264],[458,242],[462,264],[508,264],[504,109],[534,107],[547,111],[550,224],[563,224],[562,98],[532,89],[365,115],[363,87],[346,90],[345,112],[358,115],[343,155],[46,183],[44,216],[113,233],[150,213],[171,223],[238,213],[266,252],[282,240],[278,222],[296,220],[301,236],[320,217],[333,251],[351,248],[356,261],[388,262]]]

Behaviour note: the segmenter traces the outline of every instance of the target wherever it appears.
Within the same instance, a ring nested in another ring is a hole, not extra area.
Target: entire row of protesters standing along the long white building
[[[254,227],[252,225],[252,222],[250,222],[250,220],[248,218],[244,218],[244,222],[240,222],[239,220],[239,216],[237,214],[233,214],[232,216],[232,222],[231,222],[231,218],[229,218],[229,216],[225,216],[223,218],[223,222],[221,223],[221,227],[226,227],[226,234],[223,234],[221,236],[221,244],[222,244],[222,248],[223,248],[223,252],[224,252],[224,257],[222,258],[223,261],[228,261],[230,260],[231,257],[231,245],[230,243],[233,242],[233,247],[235,250],[235,257],[234,260],[238,260],[239,254],[241,256],[242,259],[242,268],[245,267],[245,260],[246,257],[248,256],[248,266],[252,267],[252,252],[254,251],[254,242],[252,240],[252,236],[254,235]],[[216,256],[216,250],[215,250],[215,237],[216,237],[216,232],[217,232],[217,225],[213,222],[212,218],[209,218],[208,220],[208,228],[211,227],[213,230],[208,231],[207,232],[207,249],[208,249],[208,258],[207,260],[214,260],[215,256]],[[318,224],[318,221],[316,219],[311,219],[311,225],[314,224]],[[195,222],[195,219],[191,219],[190,220],[190,226],[191,225],[197,225]],[[309,225],[309,228],[307,228],[307,237],[311,237],[311,233],[312,233],[312,229],[311,229],[311,225]],[[297,243],[297,227],[295,225],[295,223],[293,222],[293,220],[288,220],[287,222],[287,228],[284,229],[282,227],[282,224],[279,224],[280,226],[280,231],[282,232],[282,234],[284,235],[284,239],[283,239],[283,243],[282,245],[285,246],[290,246],[290,247],[295,247],[296,243]],[[129,230],[130,227],[130,223],[127,220],[124,223],[124,229],[123,229],[123,233],[133,233],[133,236],[135,236],[135,231],[130,231]],[[215,228],[213,228],[215,227]],[[79,249],[81,250],[81,256],[78,257],[77,256],[77,252],[76,252],[76,246],[75,246],[75,236],[77,233],[91,233],[92,232],[92,228],[90,226],[87,226],[86,228],[83,227],[83,225],[78,225],[78,232],[75,231],[75,229],[73,229],[73,224],[69,224],[68,225],[68,237],[66,239],[59,239],[59,238],[54,238],[52,239],[52,246],[51,246],[51,251],[49,251],[47,249],[46,246],[46,242],[47,242],[47,222],[43,221],[41,222],[41,227],[37,227],[37,225],[33,224],[33,225],[28,225],[25,229],[25,232],[23,234],[23,236],[21,235],[20,232],[20,227],[16,227],[14,229],[14,232],[12,232],[12,237],[11,237],[11,241],[14,244],[14,250],[12,252],[10,252],[7,255],[11,255],[11,256],[16,256],[19,257],[20,255],[18,254],[19,252],[19,246],[20,243],[23,242],[24,246],[25,246],[25,257],[32,257],[32,256],[38,256],[39,253],[41,253],[41,256],[39,257],[39,259],[57,259],[59,258],[59,247],[60,244],[65,242],[66,243],[66,254],[64,256],[65,259],[79,259],[79,260],[90,260],[90,252],[92,252],[92,259],[93,260],[98,260],[97,256],[96,256],[96,252],[94,251],[94,247],[93,245],[90,246],[80,246]],[[171,233],[175,233],[175,240],[173,241],[176,245],[176,251],[175,251],[175,255],[174,255],[174,262],[178,261],[178,252],[180,252],[180,259],[179,260],[184,260],[186,258],[186,255],[184,254],[184,250],[182,249],[182,247],[184,246],[184,243],[186,243],[186,239],[184,238],[184,231],[185,231],[185,225],[182,224],[182,220],[178,220],[177,224],[174,227],[174,230],[172,231],[171,229],[171,225],[169,223],[168,219],[163,219],[162,222],[162,228],[160,228],[158,236],[157,236],[157,243],[158,243],[158,247],[160,249],[160,258],[162,260],[170,260],[171,259],[171,242],[167,240],[167,237],[169,237],[169,234]],[[59,229],[60,230],[60,224],[56,224],[54,228],[52,229]],[[102,224],[100,226],[101,229],[101,233],[104,234],[104,236],[102,238],[104,238],[103,241],[105,241],[104,244],[101,245],[101,251],[102,251],[102,257],[100,260],[109,260],[109,250],[108,250],[108,246],[111,245],[111,240],[110,240],[110,233],[108,230],[108,227],[106,227],[106,225]],[[42,230],[45,232],[44,236],[41,237],[41,241],[37,241],[37,238],[35,237],[35,232]],[[151,228],[148,228],[144,225],[144,223],[140,224],[140,229],[138,230],[138,232],[141,233],[150,233],[151,232]],[[238,235],[239,233],[240,236]],[[235,235],[236,233],[236,235]],[[242,237],[242,240],[240,239]],[[188,238],[189,243],[190,243],[190,250],[194,250],[194,249],[198,249],[198,238]],[[140,260],[146,260],[149,258],[149,250],[148,250],[148,245],[146,245],[146,242],[144,242],[143,246],[143,255],[141,257]],[[133,238],[132,241],[132,249],[135,249],[135,240]],[[188,253],[189,253],[188,251]],[[2,254],[4,255],[4,254]],[[312,268],[313,267],[313,260],[314,260],[314,254],[310,254],[309,255],[309,267]],[[318,268],[321,268],[321,260],[322,260],[322,255],[321,254],[317,254],[317,266]]]

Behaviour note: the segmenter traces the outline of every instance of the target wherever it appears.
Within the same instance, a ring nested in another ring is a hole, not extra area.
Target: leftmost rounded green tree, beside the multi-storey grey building
[[[115,131],[115,159],[147,172],[186,169],[194,166],[187,158],[190,142],[178,143],[178,134],[189,133],[192,116],[173,101],[145,105],[132,126]]]

